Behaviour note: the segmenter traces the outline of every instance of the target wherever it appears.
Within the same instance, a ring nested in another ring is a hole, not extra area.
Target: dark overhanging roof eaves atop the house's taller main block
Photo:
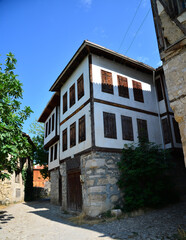
[[[85,40],[82,43],[82,45],[80,46],[80,48],[77,50],[77,52],[74,54],[72,59],[69,61],[67,66],[64,68],[64,70],[58,76],[58,78],[56,79],[56,81],[54,82],[52,87],[50,88],[50,91],[59,91],[60,88],[63,86],[63,84],[70,77],[70,75],[73,73],[73,71],[81,63],[81,61],[90,53],[105,57],[110,60],[114,60],[117,63],[127,65],[134,69],[138,69],[139,71],[142,71],[142,72],[152,73],[152,71],[155,71],[154,68],[152,68],[142,62],[136,61],[136,60],[126,57],[122,54],[119,54],[117,52],[114,52],[114,51],[104,48],[100,45],[97,45],[97,44],[94,44],[92,42]]]

